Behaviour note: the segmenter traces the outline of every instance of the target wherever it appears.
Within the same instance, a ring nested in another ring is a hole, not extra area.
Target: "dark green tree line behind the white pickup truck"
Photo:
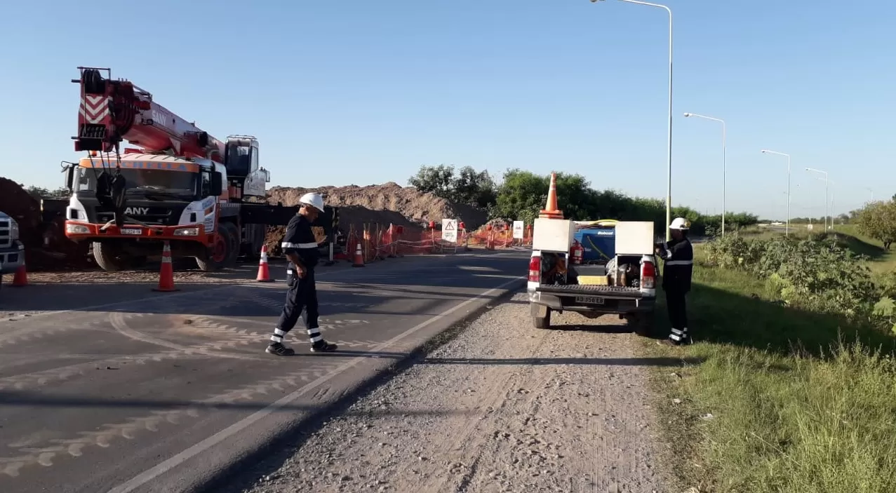
[[[522,220],[528,224],[545,207],[550,175],[534,174],[518,168],[508,169],[499,182],[487,171],[476,171],[471,166],[455,170],[454,166],[420,166],[417,174],[408,179],[419,191],[488,210],[491,219]],[[658,234],[666,225],[666,201],[630,197],[615,190],[595,190],[582,174],[556,173],[557,206],[564,217],[573,220],[618,219],[653,221]],[[673,207],[672,217],[691,221],[693,234],[717,234],[721,215],[707,216],[688,207]],[[755,225],[759,218],[745,212],[728,213],[726,230]]]

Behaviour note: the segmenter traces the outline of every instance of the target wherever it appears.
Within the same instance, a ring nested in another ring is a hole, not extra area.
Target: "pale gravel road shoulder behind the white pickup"
[[[239,490],[668,491],[636,336],[613,317],[554,323],[532,327],[514,295]]]

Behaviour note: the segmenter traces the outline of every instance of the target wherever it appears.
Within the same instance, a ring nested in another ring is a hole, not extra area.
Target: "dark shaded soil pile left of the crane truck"
[[[31,197],[22,185],[4,177],[0,177],[0,211],[19,223],[19,238],[25,244],[25,263],[29,270],[91,266],[88,245],[79,245],[65,237],[64,220],[60,217],[42,225],[40,202]]]

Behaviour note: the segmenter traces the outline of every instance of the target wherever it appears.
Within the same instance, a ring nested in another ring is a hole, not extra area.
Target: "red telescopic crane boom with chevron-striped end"
[[[81,86],[81,106],[74,150],[111,152],[126,140],[146,152],[224,162],[223,142],[153,101],[148,91],[131,81],[113,81],[109,69],[78,70],[81,78],[73,82]],[[100,71],[106,71],[107,77]]]

